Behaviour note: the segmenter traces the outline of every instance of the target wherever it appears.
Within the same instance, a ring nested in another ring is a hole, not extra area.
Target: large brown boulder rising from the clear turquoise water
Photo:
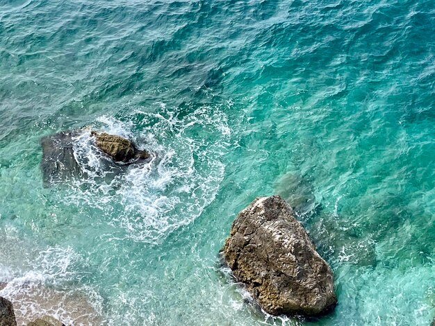
[[[243,209],[221,253],[269,314],[318,316],[336,305],[331,268],[280,196]]]

